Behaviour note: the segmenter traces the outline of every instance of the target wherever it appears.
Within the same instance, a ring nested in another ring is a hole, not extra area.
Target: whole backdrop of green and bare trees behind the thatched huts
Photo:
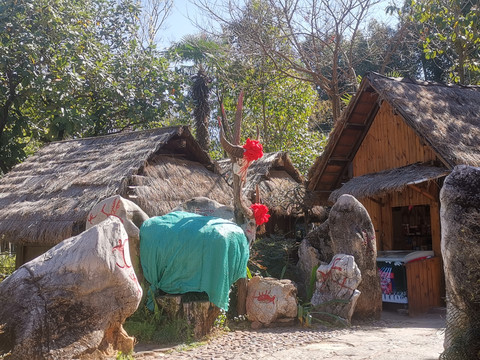
[[[242,141],[306,172],[366,72],[480,83],[473,0],[406,0],[394,27],[377,0],[192,1],[212,23],[163,51],[171,0],[2,0],[0,174],[45,142],[195,121],[222,156],[240,90]]]

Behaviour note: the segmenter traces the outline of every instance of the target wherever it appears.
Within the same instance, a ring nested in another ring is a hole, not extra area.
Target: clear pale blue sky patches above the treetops
[[[197,7],[192,4],[193,0],[174,0],[173,10],[166,21],[165,29],[161,34],[161,47],[168,47],[172,43],[180,41],[185,35],[198,32],[191,18],[198,16]],[[392,19],[385,14],[385,8],[391,0],[381,0],[375,7],[374,17],[377,20],[390,22]]]

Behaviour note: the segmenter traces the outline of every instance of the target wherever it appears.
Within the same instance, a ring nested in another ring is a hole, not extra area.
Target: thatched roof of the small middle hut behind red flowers
[[[231,185],[230,159],[219,160],[217,164],[221,174]],[[262,203],[272,212],[291,215],[298,211],[304,194],[303,177],[286,152],[264,154],[250,165],[243,189],[243,194],[249,201],[254,201],[257,185]]]

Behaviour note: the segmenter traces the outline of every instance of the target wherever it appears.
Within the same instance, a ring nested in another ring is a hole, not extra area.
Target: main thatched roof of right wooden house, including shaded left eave
[[[480,87],[366,75],[308,174],[325,199],[348,180],[348,166],[383,101],[429,145],[445,168],[480,166]]]

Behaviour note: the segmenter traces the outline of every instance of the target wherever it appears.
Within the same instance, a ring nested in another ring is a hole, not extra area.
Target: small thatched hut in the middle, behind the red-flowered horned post
[[[224,159],[217,162],[221,174],[232,184],[231,162]],[[248,168],[243,195],[249,203],[256,202],[256,189],[260,202],[269,208],[270,220],[266,224],[267,234],[281,232],[294,238],[304,230],[304,216],[322,217],[323,208],[305,206],[304,178],[293,165],[286,152],[266,153]]]

